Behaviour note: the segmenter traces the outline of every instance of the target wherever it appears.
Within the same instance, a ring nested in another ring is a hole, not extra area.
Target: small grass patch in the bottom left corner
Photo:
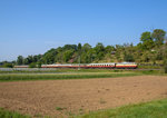
[[[0,118],[30,118],[30,117],[18,114],[16,111],[8,111],[3,108],[0,108]]]

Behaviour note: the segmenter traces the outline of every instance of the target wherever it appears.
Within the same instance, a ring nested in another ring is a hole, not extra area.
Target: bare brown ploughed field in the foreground
[[[0,107],[22,114],[68,116],[167,98],[167,77],[0,82]]]

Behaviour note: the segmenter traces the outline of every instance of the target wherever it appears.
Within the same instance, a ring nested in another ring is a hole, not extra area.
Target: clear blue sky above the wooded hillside
[[[0,61],[63,45],[139,42],[167,31],[167,0],[0,0]]]

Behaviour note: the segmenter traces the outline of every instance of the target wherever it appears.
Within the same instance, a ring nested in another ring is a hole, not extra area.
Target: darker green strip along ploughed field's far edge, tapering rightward
[[[88,79],[88,78],[115,78],[139,76],[137,72],[94,72],[94,73],[3,73],[0,75],[0,81],[18,81],[18,80],[56,80],[56,79]]]

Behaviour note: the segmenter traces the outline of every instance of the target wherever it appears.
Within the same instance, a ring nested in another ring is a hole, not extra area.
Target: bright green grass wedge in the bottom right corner
[[[167,118],[167,99],[94,111],[73,118]]]

